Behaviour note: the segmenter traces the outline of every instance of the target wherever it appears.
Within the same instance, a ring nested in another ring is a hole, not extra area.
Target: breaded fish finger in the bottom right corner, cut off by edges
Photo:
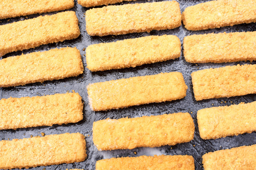
[[[203,155],[204,170],[255,170],[256,145],[240,146]]]

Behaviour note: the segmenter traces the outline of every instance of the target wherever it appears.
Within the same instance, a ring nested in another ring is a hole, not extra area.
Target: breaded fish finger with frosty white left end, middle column
[[[179,72],[98,82],[87,86],[89,105],[94,111],[178,100],[186,96],[187,89]]]

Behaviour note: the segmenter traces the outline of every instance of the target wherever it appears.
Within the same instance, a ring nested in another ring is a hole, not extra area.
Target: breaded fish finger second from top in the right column
[[[184,38],[184,57],[190,63],[256,60],[256,31],[190,35]]]

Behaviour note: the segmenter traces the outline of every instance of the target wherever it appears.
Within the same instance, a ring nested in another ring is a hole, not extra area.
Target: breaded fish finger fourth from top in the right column
[[[197,111],[201,138],[216,139],[256,131],[256,102]]]

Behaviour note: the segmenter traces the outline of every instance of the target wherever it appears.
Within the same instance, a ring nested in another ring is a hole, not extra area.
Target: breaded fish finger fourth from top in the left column
[[[0,100],[0,130],[76,123],[83,119],[78,93]]]

